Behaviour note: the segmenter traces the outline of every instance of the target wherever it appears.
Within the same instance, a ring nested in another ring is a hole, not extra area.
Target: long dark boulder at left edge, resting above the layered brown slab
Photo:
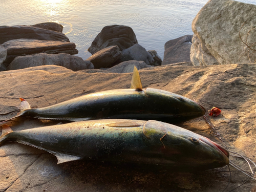
[[[32,26],[0,26],[0,44],[12,39],[38,39],[38,40],[54,40],[68,41],[69,38],[60,32],[41,29]]]

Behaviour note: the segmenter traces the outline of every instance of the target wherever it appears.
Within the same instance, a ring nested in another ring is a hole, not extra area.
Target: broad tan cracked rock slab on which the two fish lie
[[[86,70],[83,70],[86,71]],[[90,70],[89,70],[90,71]],[[139,71],[144,88],[151,87],[196,99],[206,110],[216,106],[221,115],[209,117],[230,151],[256,161],[256,66],[159,66]],[[83,73],[59,66],[40,66],[0,72],[0,120],[17,113],[19,97],[34,108],[59,103],[84,94],[110,89],[129,89],[132,73]],[[26,82],[26,83],[24,83]],[[79,82],[79,83],[78,83]],[[13,130],[57,123],[24,119]],[[220,143],[209,134],[203,118],[179,124]],[[1,132],[0,132],[1,134]],[[223,144],[222,144],[223,145]],[[246,163],[232,158],[246,170]],[[74,161],[56,164],[56,158],[33,147],[6,143],[0,147],[0,191],[211,191],[224,190],[229,173],[226,167],[198,173],[174,173],[162,168],[130,167],[106,162]],[[234,170],[230,166],[231,170]],[[227,191],[247,180],[232,172]],[[170,182],[171,181],[171,182]],[[250,180],[236,191],[253,191]]]

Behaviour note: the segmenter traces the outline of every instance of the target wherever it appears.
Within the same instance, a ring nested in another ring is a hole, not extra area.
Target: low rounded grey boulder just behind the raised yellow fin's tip
[[[134,66],[140,70],[143,68],[150,68],[152,66],[146,65],[144,61],[137,61],[137,60],[129,60],[119,63],[118,65],[107,69],[106,71],[112,72],[112,73],[132,73]]]

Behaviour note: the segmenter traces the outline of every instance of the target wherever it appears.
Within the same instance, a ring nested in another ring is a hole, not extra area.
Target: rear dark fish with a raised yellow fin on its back
[[[20,98],[20,101],[20,112],[11,119],[31,116],[68,121],[139,119],[174,123],[203,116],[206,112],[202,105],[181,95],[160,89],[143,89],[136,67],[131,89],[91,93],[38,109],[31,109],[25,99]]]

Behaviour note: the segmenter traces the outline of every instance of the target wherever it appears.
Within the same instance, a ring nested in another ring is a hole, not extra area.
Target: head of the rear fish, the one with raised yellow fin
[[[152,98],[152,103],[163,106],[161,113],[172,114],[177,122],[201,117],[206,112],[205,108],[196,101],[172,92],[146,88],[145,95]]]

